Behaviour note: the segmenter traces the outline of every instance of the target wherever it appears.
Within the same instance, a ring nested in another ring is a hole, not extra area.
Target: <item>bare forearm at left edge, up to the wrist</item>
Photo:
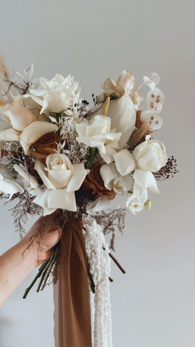
[[[0,256],[0,307],[37,266],[37,250],[28,244],[22,240]]]

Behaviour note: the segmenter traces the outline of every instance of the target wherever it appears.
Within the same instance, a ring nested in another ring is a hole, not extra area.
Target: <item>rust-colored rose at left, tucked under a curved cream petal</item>
[[[56,142],[58,142],[59,140],[60,140],[60,137],[58,136],[57,133],[45,134],[41,136],[39,140],[33,143],[35,152],[32,151],[31,154],[45,164],[46,157],[49,154],[55,153],[55,150],[57,149]]]

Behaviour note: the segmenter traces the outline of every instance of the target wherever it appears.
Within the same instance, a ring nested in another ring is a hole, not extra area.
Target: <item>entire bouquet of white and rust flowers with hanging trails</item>
[[[59,209],[56,223],[63,228],[24,298],[37,279],[39,291],[59,278],[62,310],[72,318],[78,318],[75,307],[82,310],[82,319],[63,322],[64,343],[69,325],[77,329],[71,338],[80,334],[79,344],[72,345],[92,345],[91,314],[94,345],[110,347],[110,259],[125,273],[110,253],[115,227],[122,232],[126,211],[149,210],[148,191],[159,194],[156,181],[177,172],[176,160],[168,159],[164,144],[153,138],[162,126],[159,75],[144,76],[139,87],[127,70],[116,82],[107,78],[103,92],[92,94],[92,108],[80,99],[81,87],[71,75],[36,79],[32,65],[10,77],[1,61],[0,77],[0,197],[6,203],[16,199],[12,215],[21,237],[28,214],[46,216]],[[140,96],[144,86],[146,110]],[[116,196],[122,196],[118,209],[110,210]],[[41,232],[31,240],[37,247]],[[110,245],[104,238],[109,232]]]

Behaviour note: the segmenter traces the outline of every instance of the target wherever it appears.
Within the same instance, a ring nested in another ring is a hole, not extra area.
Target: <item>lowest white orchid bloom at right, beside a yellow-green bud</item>
[[[126,206],[133,214],[138,214],[144,208],[147,201],[147,189],[143,189],[136,182],[134,182],[133,193],[126,201]]]

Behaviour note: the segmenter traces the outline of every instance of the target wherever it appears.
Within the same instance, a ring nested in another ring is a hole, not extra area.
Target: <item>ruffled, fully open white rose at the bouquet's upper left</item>
[[[41,77],[38,89],[29,89],[29,94],[23,96],[28,103],[29,98],[39,104],[43,112],[66,111],[78,102],[81,87],[74,82],[74,77],[70,75],[64,78],[56,74],[51,80]]]

